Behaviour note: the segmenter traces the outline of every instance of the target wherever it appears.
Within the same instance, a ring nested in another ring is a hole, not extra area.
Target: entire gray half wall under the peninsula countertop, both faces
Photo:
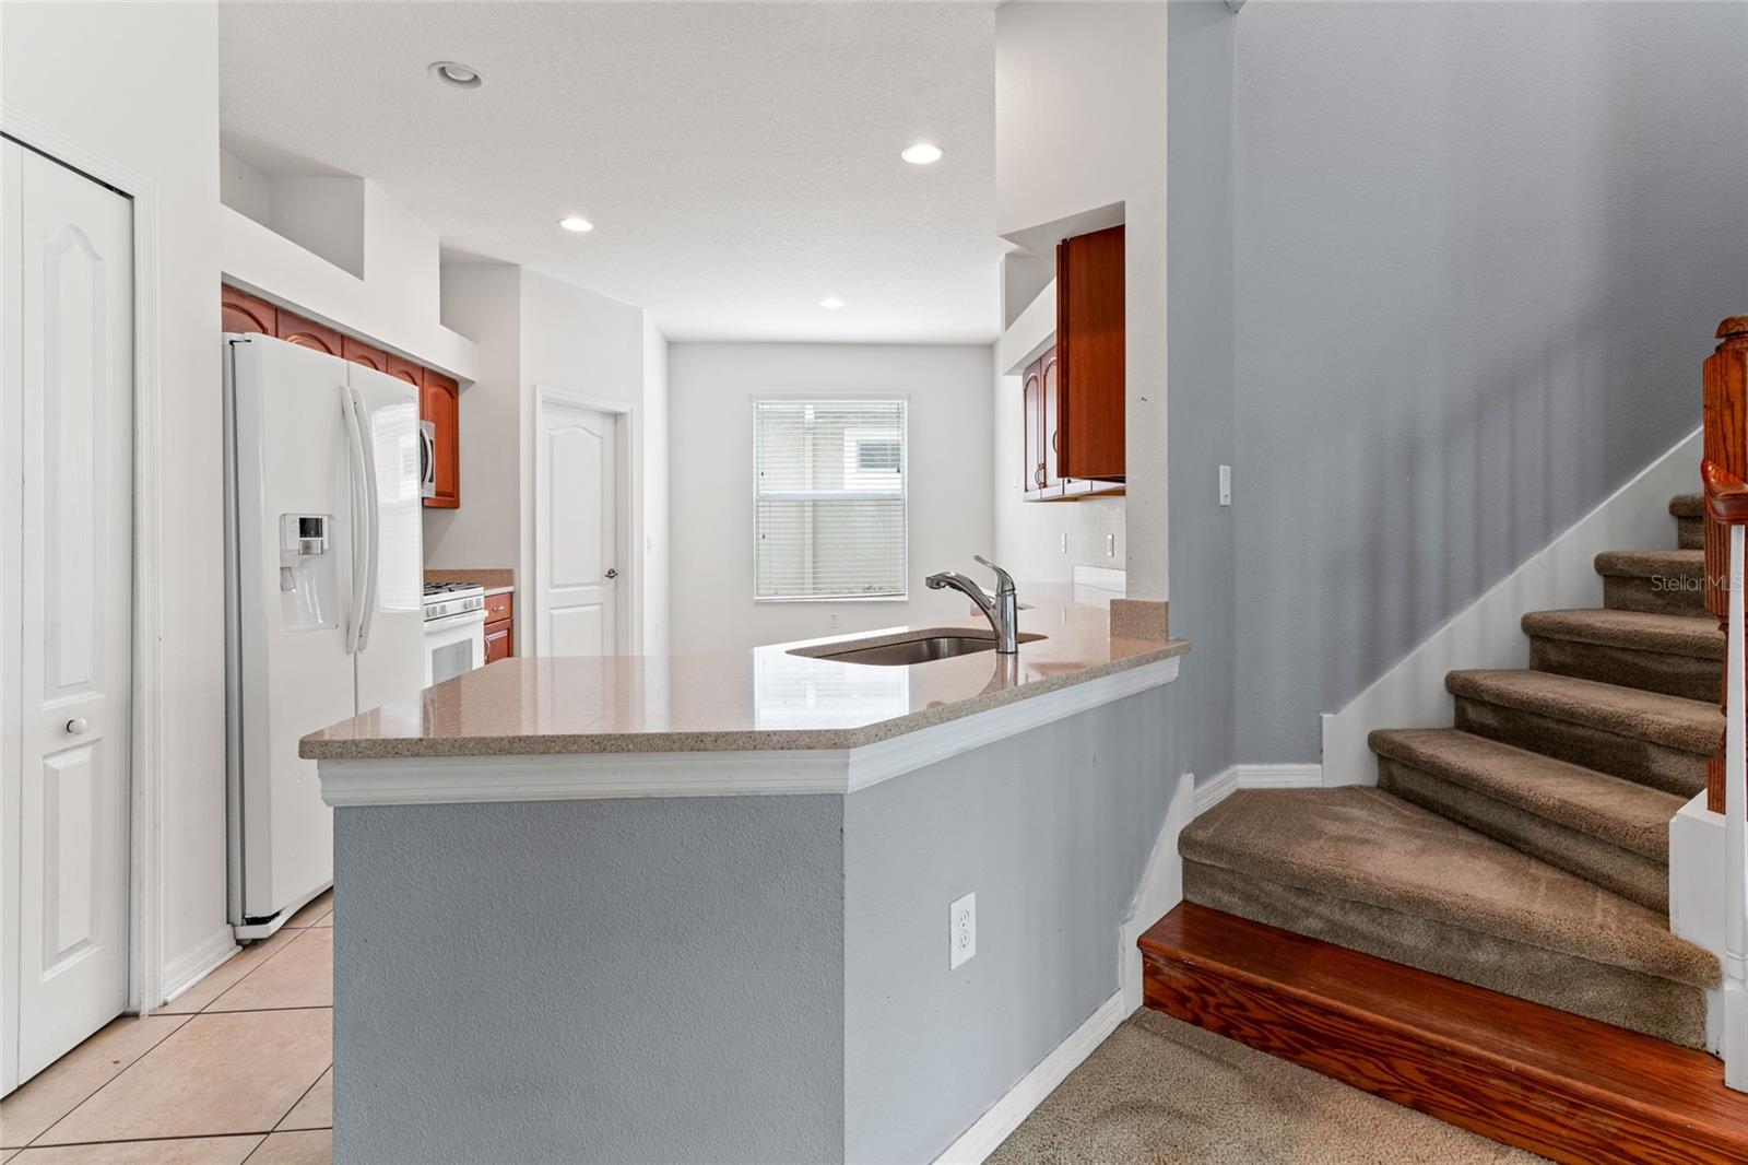
[[[1117,990],[1169,691],[850,798],[341,808],[334,1160],[933,1160]]]

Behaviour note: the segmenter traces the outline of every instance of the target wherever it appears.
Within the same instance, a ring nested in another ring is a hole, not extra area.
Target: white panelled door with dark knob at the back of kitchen
[[[535,434],[535,654],[619,651],[619,418],[542,397]]]

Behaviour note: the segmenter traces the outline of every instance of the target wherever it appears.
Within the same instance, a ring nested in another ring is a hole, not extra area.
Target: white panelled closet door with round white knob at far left
[[[128,1002],[133,210],[3,149],[0,703],[16,731],[0,876],[7,1064],[23,1081]]]

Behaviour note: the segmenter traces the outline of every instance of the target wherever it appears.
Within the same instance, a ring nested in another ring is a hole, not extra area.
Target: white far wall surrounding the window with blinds
[[[972,555],[993,556],[988,346],[675,343],[668,353],[676,652],[967,617],[963,596],[923,577],[981,576]],[[909,399],[907,600],[753,602],[752,401],[767,394]]]

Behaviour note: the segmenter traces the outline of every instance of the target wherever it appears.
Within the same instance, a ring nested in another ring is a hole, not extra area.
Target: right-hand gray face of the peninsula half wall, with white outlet
[[[844,801],[844,1156],[932,1162],[1117,990],[1175,684]],[[947,971],[947,904],[977,957]]]

